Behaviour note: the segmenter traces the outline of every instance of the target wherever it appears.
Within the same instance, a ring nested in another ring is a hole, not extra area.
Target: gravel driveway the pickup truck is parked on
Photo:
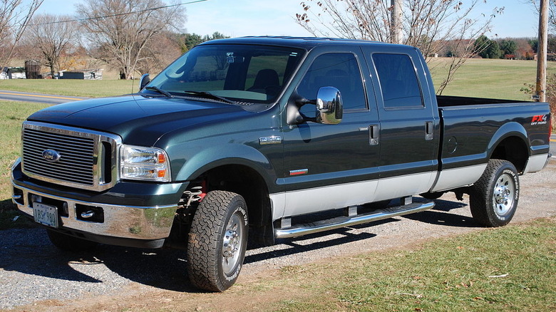
[[[520,177],[520,202],[512,224],[556,216],[555,175],[556,160],[552,160],[545,170]],[[242,295],[242,284],[264,285],[284,267],[416,248],[430,239],[483,230],[470,216],[468,204],[467,196],[459,202],[453,194],[445,194],[426,212],[250,249],[238,285],[217,294],[198,293],[190,286],[185,251],[100,246],[84,254],[68,254],[52,246],[43,229],[0,231],[0,309],[159,311],[174,304],[179,308],[168,309],[205,311],[212,306],[215,311],[252,311],[262,298],[257,293]],[[272,292],[279,296],[281,291]],[[184,293],[179,298],[185,299],[170,302],[178,293]],[[235,308],[227,306],[230,302]]]

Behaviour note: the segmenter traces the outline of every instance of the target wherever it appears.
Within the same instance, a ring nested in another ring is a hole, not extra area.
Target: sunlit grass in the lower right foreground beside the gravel
[[[556,311],[555,233],[553,217],[437,239],[408,251],[287,266],[276,284],[260,287],[269,293],[289,288],[292,296],[257,308]]]

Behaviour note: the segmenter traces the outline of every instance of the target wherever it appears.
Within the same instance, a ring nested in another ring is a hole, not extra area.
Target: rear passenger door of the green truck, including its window
[[[364,48],[381,122],[376,199],[427,192],[438,167],[438,113],[421,58],[407,48]]]

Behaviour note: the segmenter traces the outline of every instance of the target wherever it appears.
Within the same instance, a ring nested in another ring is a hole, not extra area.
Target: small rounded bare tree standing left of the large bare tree
[[[41,14],[35,16],[29,25],[29,43],[41,51],[44,65],[50,68],[54,77],[59,67],[61,53],[77,39],[77,24],[71,16]]]

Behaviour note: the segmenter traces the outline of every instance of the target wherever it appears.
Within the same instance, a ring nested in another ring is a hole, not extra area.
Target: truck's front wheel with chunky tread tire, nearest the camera
[[[225,291],[240,275],[248,230],[247,204],[239,194],[208,192],[193,217],[187,273],[197,288]]]

